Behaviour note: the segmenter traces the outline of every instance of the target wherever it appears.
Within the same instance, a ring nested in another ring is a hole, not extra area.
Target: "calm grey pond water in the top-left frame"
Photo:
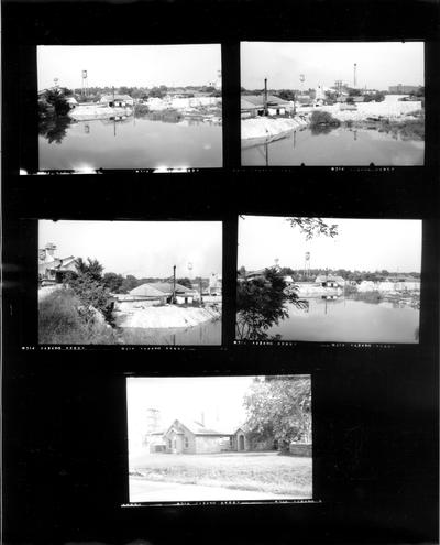
[[[222,128],[183,119],[57,122],[40,131],[40,170],[221,167]]]

